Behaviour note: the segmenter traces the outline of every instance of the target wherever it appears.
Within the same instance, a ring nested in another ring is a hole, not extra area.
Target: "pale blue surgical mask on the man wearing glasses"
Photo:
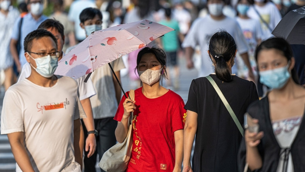
[[[29,54],[29,53],[27,53]],[[39,73],[41,76],[45,78],[52,77],[57,66],[58,66],[58,58],[56,56],[44,56],[41,58],[33,58],[30,54],[29,56],[35,60],[37,68],[30,63],[30,65]]]

